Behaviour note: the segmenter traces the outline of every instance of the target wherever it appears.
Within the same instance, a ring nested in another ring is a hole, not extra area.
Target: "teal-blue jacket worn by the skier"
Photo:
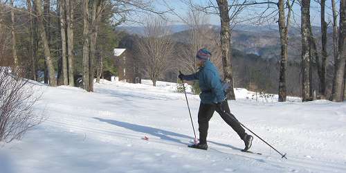
[[[199,98],[204,104],[221,102],[226,98],[219,72],[209,60],[199,67],[197,73],[184,75],[183,80],[199,80],[199,88],[202,91]]]

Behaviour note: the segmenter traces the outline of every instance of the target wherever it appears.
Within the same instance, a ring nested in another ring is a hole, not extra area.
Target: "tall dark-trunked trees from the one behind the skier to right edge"
[[[233,63],[232,63],[232,50],[231,35],[233,26],[242,21],[253,21],[256,23],[263,23],[271,19],[275,19],[280,33],[281,45],[281,58],[280,58],[280,78],[279,78],[279,101],[286,101],[287,97],[287,61],[288,61],[288,40],[289,40],[289,26],[291,25],[293,15],[293,5],[300,6],[300,33],[301,33],[301,75],[302,75],[302,101],[309,101],[316,99],[315,91],[319,98],[327,98],[327,21],[325,19],[325,0],[316,0],[315,2],[320,5],[320,33],[321,42],[316,42],[316,36],[312,32],[312,24],[310,20],[311,0],[278,0],[278,1],[227,1],[216,0],[205,3],[194,3],[193,1],[183,1],[193,10],[199,10],[206,14],[218,15],[221,21],[221,30],[219,36],[219,44],[221,48],[221,59],[223,64],[224,79],[229,82],[230,91],[228,91],[227,98],[235,99],[233,91]],[[334,76],[329,100],[341,102],[346,98],[345,87],[345,60],[346,60],[346,43],[345,43],[345,24],[346,24],[346,1],[340,0],[339,9],[337,3],[331,0],[331,12],[333,26],[333,54],[334,54]],[[261,10],[255,10],[262,7]],[[250,17],[244,17],[242,11],[253,9],[257,13]],[[259,12],[260,11],[260,12]],[[254,21],[253,19],[257,20]],[[337,21],[339,19],[339,22]],[[338,26],[339,25],[339,26]],[[318,50],[318,44],[321,50]],[[312,87],[313,81],[313,68],[317,66],[318,73],[318,89]]]

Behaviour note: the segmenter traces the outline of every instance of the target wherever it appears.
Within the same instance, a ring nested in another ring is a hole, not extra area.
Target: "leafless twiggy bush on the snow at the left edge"
[[[39,98],[28,80],[11,73],[8,67],[0,67],[0,141],[20,139],[42,122],[43,116],[34,109]]]

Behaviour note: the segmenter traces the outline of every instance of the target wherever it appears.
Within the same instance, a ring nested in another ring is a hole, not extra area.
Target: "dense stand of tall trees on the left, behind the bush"
[[[1,0],[0,66],[93,91],[102,71],[115,73],[113,48],[122,34],[115,28],[134,12],[161,15],[147,0]]]

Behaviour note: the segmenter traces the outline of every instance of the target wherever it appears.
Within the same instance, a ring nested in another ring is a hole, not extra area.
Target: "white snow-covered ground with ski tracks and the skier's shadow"
[[[20,141],[0,146],[0,172],[346,172],[346,102],[253,100],[236,89],[237,119],[287,153],[282,159],[254,138],[253,152],[215,113],[208,151],[186,147],[194,134],[176,84],[102,81],[95,93],[35,84],[46,120]],[[188,94],[198,129],[198,95]],[[299,100],[290,98],[290,100]],[[143,140],[147,136],[149,140]],[[198,136],[198,131],[197,131]]]

